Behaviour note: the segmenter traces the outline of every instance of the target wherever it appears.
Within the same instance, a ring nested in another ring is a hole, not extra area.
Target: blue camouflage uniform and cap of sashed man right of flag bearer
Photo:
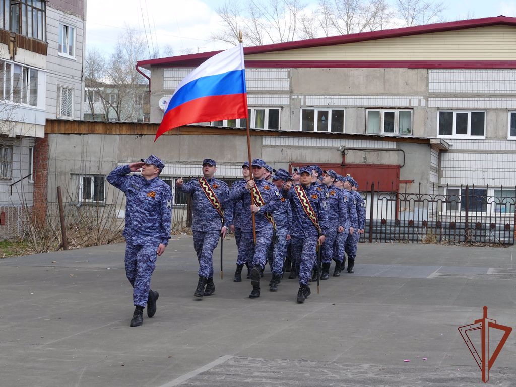
[[[310,167],[302,167],[299,172],[312,173],[312,170]],[[317,216],[321,233],[326,234],[328,231],[328,216],[326,212],[325,192],[318,188],[317,185],[311,185],[308,188],[303,187]],[[295,188],[292,187],[288,191],[282,190],[281,193],[283,197],[289,199],[292,206],[291,244],[294,259],[300,262],[299,284],[308,286],[308,281],[311,277],[315,262],[319,232],[314,223],[304,212]]]

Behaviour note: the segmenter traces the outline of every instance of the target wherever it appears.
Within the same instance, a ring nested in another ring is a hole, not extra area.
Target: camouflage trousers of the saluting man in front
[[[133,286],[133,304],[145,308],[151,288],[151,275],[156,267],[156,250],[159,241],[148,245],[132,245],[125,247],[125,275]]]

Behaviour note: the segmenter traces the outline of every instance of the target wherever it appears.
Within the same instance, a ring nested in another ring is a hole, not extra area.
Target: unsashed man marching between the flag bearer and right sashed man
[[[284,169],[275,171],[272,177],[272,184],[281,191],[283,185],[287,181],[292,181],[290,173]],[[270,281],[270,291],[277,292],[278,284],[283,276],[283,263],[287,252],[287,246],[291,239],[290,225],[292,223],[292,209],[288,200],[283,196],[280,198],[281,204],[274,212],[274,221],[276,223],[275,236],[272,239],[272,280]]]

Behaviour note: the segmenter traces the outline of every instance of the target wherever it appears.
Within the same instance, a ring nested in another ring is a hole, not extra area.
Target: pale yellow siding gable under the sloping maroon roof
[[[516,27],[489,26],[246,55],[246,60],[516,60]]]

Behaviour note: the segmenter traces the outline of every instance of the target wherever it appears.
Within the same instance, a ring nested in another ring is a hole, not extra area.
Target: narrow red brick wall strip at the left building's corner
[[[47,185],[49,175],[49,134],[36,139],[34,151],[34,220],[43,224],[46,214]]]

